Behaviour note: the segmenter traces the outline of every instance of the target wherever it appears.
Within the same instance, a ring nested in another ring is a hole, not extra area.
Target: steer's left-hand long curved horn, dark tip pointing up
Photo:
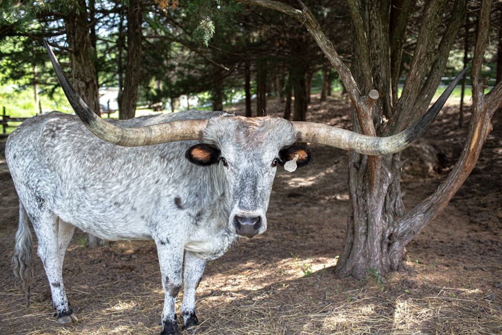
[[[77,95],[46,40],[44,45],[70,105],[84,125],[100,139],[124,147],[202,139],[208,120],[181,120],[136,128],[116,127],[102,120]]]

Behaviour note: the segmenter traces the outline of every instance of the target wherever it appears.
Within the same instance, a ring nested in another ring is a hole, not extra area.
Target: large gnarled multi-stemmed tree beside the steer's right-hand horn
[[[394,132],[408,125],[411,120],[416,119],[417,115],[423,113],[424,110],[417,107],[424,104],[425,98],[420,94],[426,92],[425,95],[429,95],[430,90],[433,89],[433,83],[438,80],[437,76],[442,73],[441,67],[444,66],[448,56],[448,48],[451,47],[452,41],[449,39],[458,29],[459,22],[463,17],[463,10],[465,10],[465,0],[458,0],[454,3],[449,23],[436,50],[437,36],[435,34],[441,22],[438,18],[443,16],[442,10],[445,8],[445,1],[424,3],[421,30],[413,55],[410,75],[406,81],[406,89],[403,90],[397,105],[394,105],[394,103],[386,103],[387,100],[392,101],[390,97],[393,95],[392,90],[388,89],[389,81],[387,81],[387,88],[378,87],[376,83],[386,84],[386,82],[385,80],[374,80],[372,74],[373,70],[381,71],[379,76],[396,78],[395,75],[385,73],[386,59],[391,58],[388,54],[386,55],[389,52],[389,45],[385,45],[385,43],[376,47],[373,45],[382,42],[375,37],[380,33],[385,33],[385,29],[374,25],[385,25],[386,22],[388,25],[389,19],[386,19],[386,15],[391,12],[389,7],[393,6],[391,2],[376,2],[375,0],[371,2],[370,0],[361,6],[357,0],[348,1],[354,21],[354,38],[357,39],[358,46],[358,50],[354,54],[357,61],[352,61],[352,64],[358,66],[354,72],[359,73],[362,77],[359,78],[358,85],[351,72],[341,61],[332,43],[322,33],[319,24],[308,8],[303,7],[301,10],[296,10],[285,4],[264,0],[241,0],[239,2],[276,9],[292,16],[305,26],[337,70],[347,89],[355,110],[354,129],[366,135],[374,135],[377,130],[379,133],[376,134]],[[379,275],[386,275],[389,271],[399,269],[406,244],[444,209],[474,167],[484,140],[491,130],[490,120],[502,103],[502,83],[498,83],[485,95],[481,77],[483,54],[488,42],[491,5],[491,0],[483,0],[479,12],[478,37],[471,72],[473,78],[473,115],[460,160],[434,194],[404,214],[399,185],[401,165],[399,154],[379,158],[352,154],[349,165],[351,213],[347,226],[345,248],[336,268],[339,275],[350,274],[360,278],[366,274],[368,269],[378,272]],[[364,11],[362,14],[359,12],[361,8]],[[369,12],[365,12],[367,10]],[[371,18],[371,20],[363,22],[362,18]],[[370,31],[366,30],[368,28]],[[384,38],[383,41],[386,40],[388,39]],[[371,57],[369,50],[371,50]],[[435,50],[435,52],[431,53],[431,50]],[[374,57],[384,57],[380,60],[380,62],[383,61],[380,64],[384,68],[371,66],[370,60]],[[424,84],[422,79],[425,73],[429,74],[429,78]],[[383,102],[379,108],[373,108],[376,105],[374,102],[379,99],[378,91],[369,90],[373,86],[373,82],[375,82],[375,88],[381,92],[389,92],[388,97],[382,99]],[[360,93],[360,87],[364,88],[363,92],[369,90],[367,96]],[[409,96],[405,96],[405,94],[409,94]],[[376,112],[386,108],[387,105],[393,105],[394,108],[388,113],[392,113],[392,117],[397,120],[393,123],[391,120],[390,123],[393,127],[386,126],[384,130],[384,127],[379,129],[377,124],[375,129],[372,122],[374,116],[378,116]]]

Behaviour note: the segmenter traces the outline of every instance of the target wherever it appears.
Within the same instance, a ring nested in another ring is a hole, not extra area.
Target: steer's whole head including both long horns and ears
[[[434,120],[462,71],[429,108],[422,118],[399,134],[389,137],[365,136],[344,129],[308,122],[241,117],[211,120],[183,120],[140,128],[113,126],[94,114],[75,93],[54,53],[44,41],[61,86],[76,114],[99,138],[122,146],[144,146],[167,142],[197,140],[186,157],[194,164],[221,164],[225,169],[228,191],[234,199],[229,229],[252,237],[266,230],[267,210],[272,181],[278,164],[298,156],[298,165],[311,161],[304,148],[290,148],[295,141],[320,143],[365,155],[388,155],[400,152],[422,136]]]

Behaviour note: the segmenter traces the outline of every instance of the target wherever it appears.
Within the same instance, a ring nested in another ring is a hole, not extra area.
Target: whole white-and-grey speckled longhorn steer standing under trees
[[[105,122],[75,94],[50,49],[49,54],[83,123],[54,112],[26,121],[8,139],[6,158],[20,200],[15,274],[28,299],[30,218],[58,322],[76,322],[62,278],[75,227],[112,241],[153,239],[165,292],[162,334],[179,333],[175,298],[184,252],[185,328],[197,324],[195,290],[206,261],[221,256],[239,236],[251,238],[267,229],[277,165],[312,160],[309,150],[292,146],[295,141],[370,155],[401,151],[425,131],[455,85],[417,124],[389,138],[201,111]]]

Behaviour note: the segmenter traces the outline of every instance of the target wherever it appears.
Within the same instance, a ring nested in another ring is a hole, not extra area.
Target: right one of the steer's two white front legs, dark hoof
[[[183,303],[181,315],[183,316],[183,329],[198,324],[195,315],[195,291],[199,286],[206,261],[187,251],[185,254],[185,287],[183,291]]]

